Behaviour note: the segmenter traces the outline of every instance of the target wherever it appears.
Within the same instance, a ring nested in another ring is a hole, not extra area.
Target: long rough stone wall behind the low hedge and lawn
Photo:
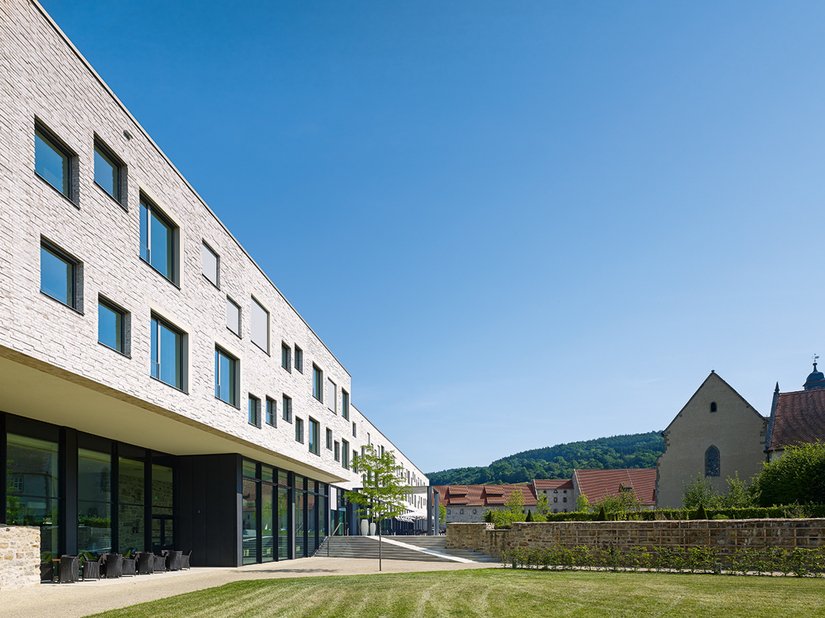
[[[495,558],[517,547],[557,545],[569,549],[714,546],[731,552],[740,547],[812,549],[825,546],[825,518],[521,522],[509,530],[495,530],[489,523],[447,524],[448,548],[472,549]]]

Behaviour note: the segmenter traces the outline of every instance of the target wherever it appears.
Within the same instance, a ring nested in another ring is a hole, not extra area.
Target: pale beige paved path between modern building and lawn
[[[385,573],[455,571],[490,568],[483,563],[414,562],[384,560]],[[193,568],[189,571],[140,575],[76,584],[41,584],[25,590],[2,593],[4,616],[88,616],[145,601],[221,586],[247,579],[364,575],[378,572],[377,560],[358,558],[300,558],[285,562],[254,564],[238,568]]]

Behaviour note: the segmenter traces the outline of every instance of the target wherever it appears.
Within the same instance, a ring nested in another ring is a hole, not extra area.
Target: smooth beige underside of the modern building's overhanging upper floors
[[[4,346],[0,411],[170,455],[237,453],[324,483],[348,480]]]

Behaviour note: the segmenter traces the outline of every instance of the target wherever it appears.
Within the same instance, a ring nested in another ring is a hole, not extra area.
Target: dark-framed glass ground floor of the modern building
[[[330,494],[333,494],[332,503]],[[176,456],[0,412],[0,519],[43,557],[192,550],[194,566],[311,556],[343,492],[239,455]]]

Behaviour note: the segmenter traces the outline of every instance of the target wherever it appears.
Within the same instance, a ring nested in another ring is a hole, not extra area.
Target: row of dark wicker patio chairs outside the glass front
[[[132,555],[107,553],[97,558],[64,555],[40,565],[41,581],[61,584],[93,579],[116,579],[189,569],[192,551],[164,549],[160,554],[142,551]]]

